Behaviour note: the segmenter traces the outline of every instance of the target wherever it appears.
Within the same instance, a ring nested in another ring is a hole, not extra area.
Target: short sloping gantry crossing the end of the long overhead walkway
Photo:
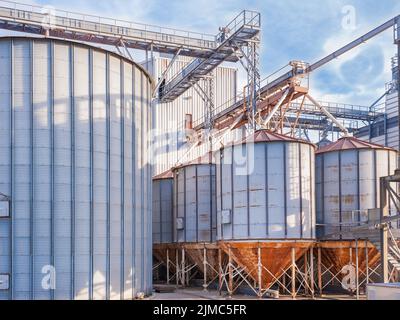
[[[261,16],[258,12],[242,11],[217,35],[218,47],[193,60],[169,81],[160,92],[160,102],[171,102],[182,95],[200,79],[215,70],[224,61],[236,60],[240,48],[247,46],[261,31]]]

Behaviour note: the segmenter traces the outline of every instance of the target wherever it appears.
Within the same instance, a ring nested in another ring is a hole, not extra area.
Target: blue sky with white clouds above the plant
[[[309,63],[400,14],[398,0],[36,0],[68,11],[217,34],[243,9],[262,15],[261,74],[291,60]],[[4,34],[4,33],[3,33]],[[311,75],[310,93],[319,100],[371,105],[391,80],[396,54],[386,31]],[[240,66],[238,65],[238,68]],[[244,81],[240,73],[239,81]]]

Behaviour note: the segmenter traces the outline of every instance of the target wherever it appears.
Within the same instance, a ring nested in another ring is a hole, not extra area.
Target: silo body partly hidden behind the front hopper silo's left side
[[[174,169],[174,242],[216,240],[215,165],[211,155]]]

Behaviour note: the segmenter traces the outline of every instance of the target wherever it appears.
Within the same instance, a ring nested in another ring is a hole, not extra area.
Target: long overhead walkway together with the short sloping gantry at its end
[[[246,58],[249,72],[259,74],[258,60],[245,52],[260,42],[261,15],[254,11],[242,11],[215,36],[0,0],[0,29],[116,46],[130,58],[128,48],[195,58],[167,83],[162,79],[160,102],[175,100],[225,61]]]

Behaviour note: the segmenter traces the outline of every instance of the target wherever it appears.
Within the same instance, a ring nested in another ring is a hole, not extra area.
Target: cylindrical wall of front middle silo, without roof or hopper
[[[283,140],[221,149],[218,240],[314,239],[314,152]]]

